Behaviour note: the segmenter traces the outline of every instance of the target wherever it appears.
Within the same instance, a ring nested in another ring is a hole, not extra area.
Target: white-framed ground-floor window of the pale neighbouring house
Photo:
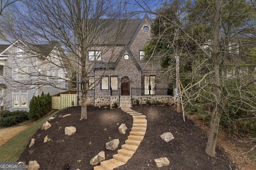
[[[13,107],[28,107],[27,91],[13,91]]]

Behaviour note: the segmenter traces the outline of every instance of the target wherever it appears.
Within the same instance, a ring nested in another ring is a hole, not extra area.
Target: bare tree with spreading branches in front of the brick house
[[[118,51],[114,47],[126,33],[124,26],[128,24],[120,16],[126,13],[125,5],[112,0],[25,0],[18,8],[16,22],[5,31],[13,40],[18,38],[34,45],[49,42],[61,45],[66,68],[73,75],[76,73],[78,84],[83,87],[77,90],[82,96],[81,119],[87,119],[87,92],[92,88],[88,80],[101,55],[112,53],[112,57],[116,57]],[[94,62],[89,62],[88,53],[92,50],[98,53]],[[104,62],[112,61],[112,57]],[[46,59],[47,62],[54,61]],[[95,80],[94,85],[98,82]]]

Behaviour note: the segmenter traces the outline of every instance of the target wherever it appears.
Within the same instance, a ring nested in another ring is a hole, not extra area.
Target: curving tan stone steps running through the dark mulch
[[[130,136],[128,136],[125,144],[121,146],[121,149],[117,151],[117,154],[113,155],[113,159],[100,162],[100,166],[95,166],[94,170],[113,170],[118,166],[126,164],[132,158],[132,155],[136,152],[144,138],[147,130],[146,116],[133,111],[130,107],[121,107],[121,109],[133,117]]]

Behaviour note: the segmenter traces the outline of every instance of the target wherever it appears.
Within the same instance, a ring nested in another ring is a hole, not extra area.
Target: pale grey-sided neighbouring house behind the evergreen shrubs
[[[0,104],[5,110],[29,110],[33,95],[65,91],[66,69],[55,45],[17,40],[0,45]]]

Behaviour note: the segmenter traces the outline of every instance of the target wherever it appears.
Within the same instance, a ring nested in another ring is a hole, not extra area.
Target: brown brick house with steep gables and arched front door
[[[160,64],[154,58],[144,59],[143,47],[151,38],[151,25],[147,15],[142,19],[126,20],[123,27],[126,31],[121,33],[116,45],[106,50],[98,43],[89,49],[87,69],[92,67],[92,72],[87,80],[90,88],[87,105],[113,106],[117,103],[120,107],[131,107],[138,102],[162,103],[172,99],[168,93],[168,78],[159,79],[163,71]],[[108,32],[108,35],[113,34]],[[82,77],[77,77],[77,87],[82,89]],[[80,97],[78,93],[78,101]]]

